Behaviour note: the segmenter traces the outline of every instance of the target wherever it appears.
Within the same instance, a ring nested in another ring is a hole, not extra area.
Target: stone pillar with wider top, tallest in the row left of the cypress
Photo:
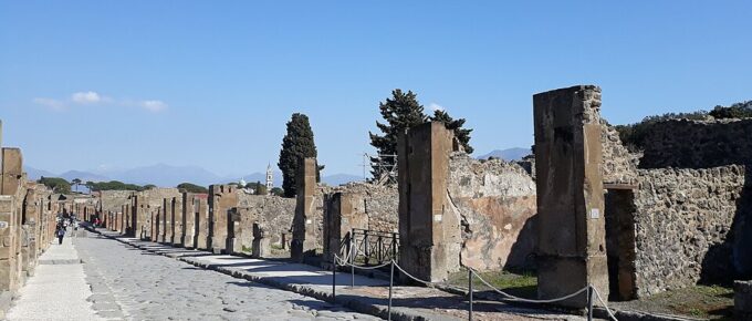
[[[227,217],[238,206],[238,193],[232,185],[209,186],[209,246],[216,253],[227,248]]]

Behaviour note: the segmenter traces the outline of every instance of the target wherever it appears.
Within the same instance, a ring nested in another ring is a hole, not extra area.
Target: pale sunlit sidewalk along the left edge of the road
[[[104,320],[86,301],[92,291],[72,238],[67,236],[62,245],[55,239],[39,258],[34,276],[18,296],[7,320]]]

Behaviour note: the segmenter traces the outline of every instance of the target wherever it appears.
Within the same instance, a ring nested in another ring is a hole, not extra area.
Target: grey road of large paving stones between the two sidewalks
[[[128,320],[379,320],[90,235],[74,241],[95,310]]]

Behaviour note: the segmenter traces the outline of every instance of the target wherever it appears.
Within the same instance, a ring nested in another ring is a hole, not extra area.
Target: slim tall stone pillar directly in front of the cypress
[[[313,219],[316,190],[316,158],[301,159],[297,172],[297,203],[292,220],[292,244],[290,256],[293,261],[302,262],[306,256],[316,251],[316,235]]]

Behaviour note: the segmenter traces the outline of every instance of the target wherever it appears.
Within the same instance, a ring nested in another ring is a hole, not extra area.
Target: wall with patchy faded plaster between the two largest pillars
[[[535,182],[524,168],[457,152],[447,189],[462,217],[463,265],[478,270],[534,266]]]

